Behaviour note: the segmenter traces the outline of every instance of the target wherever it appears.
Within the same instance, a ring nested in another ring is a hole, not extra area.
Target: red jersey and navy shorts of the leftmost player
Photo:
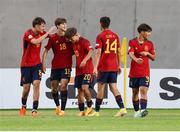
[[[34,80],[41,80],[41,43],[32,44],[32,39],[38,39],[45,32],[35,33],[32,29],[27,30],[23,37],[23,56],[21,60],[21,82],[20,85],[32,83]]]

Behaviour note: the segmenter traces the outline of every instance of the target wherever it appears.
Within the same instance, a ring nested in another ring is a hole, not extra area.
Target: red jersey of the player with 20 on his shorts
[[[80,67],[81,62],[87,56],[88,52],[93,49],[90,42],[80,37],[79,42],[73,44],[74,53],[76,55],[76,76],[82,74],[92,74],[93,73],[93,62],[90,58],[84,67]]]

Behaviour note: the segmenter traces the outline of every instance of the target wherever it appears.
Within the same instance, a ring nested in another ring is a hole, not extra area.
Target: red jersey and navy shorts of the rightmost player
[[[154,45],[151,41],[146,40],[143,44],[139,44],[137,38],[129,41],[128,53],[133,52],[136,58],[141,58],[143,60],[142,64],[136,63],[131,60],[131,67],[129,72],[130,87],[137,88],[139,86],[149,87],[150,82],[150,67],[149,58],[147,56],[142,56],[140,53],[146,51],[155,55]]]

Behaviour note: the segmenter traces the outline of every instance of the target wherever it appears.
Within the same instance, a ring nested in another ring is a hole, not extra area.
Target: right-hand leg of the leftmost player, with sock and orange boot
[[[39,95],[40,95],[40,80],[33,81],[33,109],[32,116],[37,116],[37,108],[39,104]]]

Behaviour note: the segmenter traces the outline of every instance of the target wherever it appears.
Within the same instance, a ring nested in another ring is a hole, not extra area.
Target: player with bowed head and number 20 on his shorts
[[[90,42],[80,37],[76,28],[68,28],[65,35],[72,43],[76,56],[75,88],[78,88],[79,116],[89,115],[92,109],[92,100],[89,87],[91,86],[93,74],[92,54],[93,48]],[[87,111],[84,112],[84,98],[87,101]]]

